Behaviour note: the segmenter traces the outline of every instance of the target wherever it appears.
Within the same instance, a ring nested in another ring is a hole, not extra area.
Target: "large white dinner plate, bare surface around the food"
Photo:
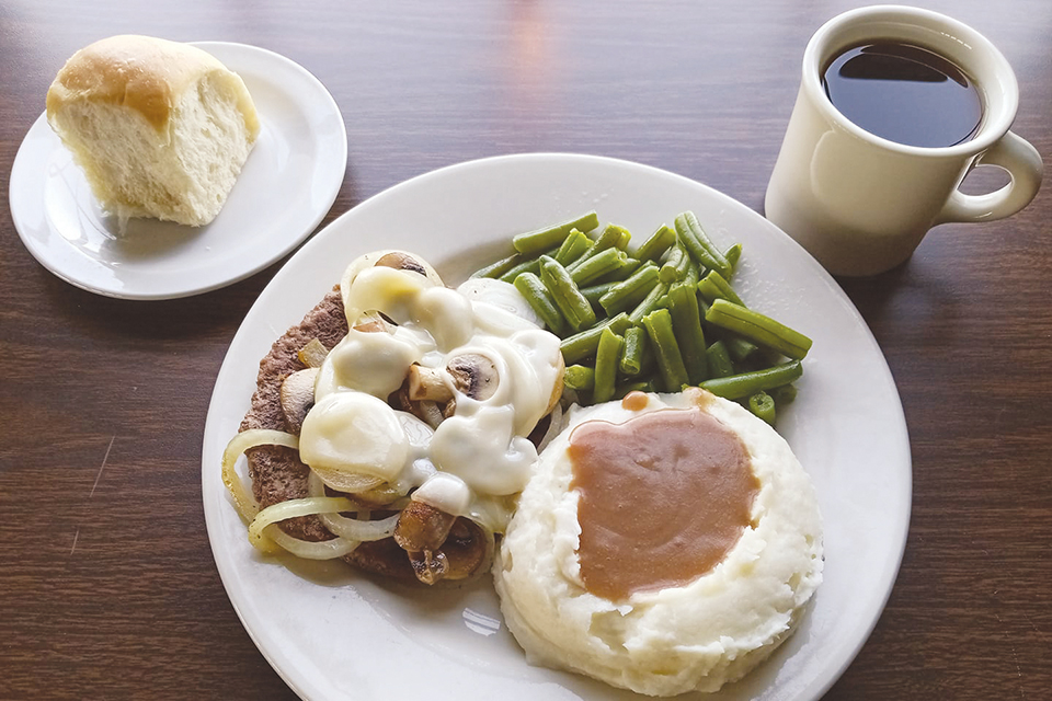
[[[260,359],[362,253],[401,248],[455,284],[510,251],[513,234],[596,209],[641,240],[693,210],[710,237],[741,242],[744,300],[814,341],[778,429],[814,480],[825,581],[798,632],[744,680],[707,699],[817,699],[850,664],[884,606],[910,520],[911,457],[894,381],[866,323],[796,242],[737,202],[653,168],[570,154],[472,161],[392,187],[333,221],[260,295],[216,381],[203,446],[208,536],[235,609],[302,698],[634,699],[531,667],[501,620],[489,578],[466,590],[401,588],[342,562],[268,559],[248,542],[220,480]],[[691,697],[681,697],[690,699]]]

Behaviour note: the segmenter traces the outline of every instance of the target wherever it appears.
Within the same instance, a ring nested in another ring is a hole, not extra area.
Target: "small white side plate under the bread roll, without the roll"
[[[33,257],[64,280],[124,299],[206,292],[287,254],[336,198],[347,133],[324,85],[266,49],[224,42],[195,46],[241,76],[262,127],[211,223],[132,219],[118,233],[116,218],[100,209],[45,115],[26,134],[11,169],[11,217]]]

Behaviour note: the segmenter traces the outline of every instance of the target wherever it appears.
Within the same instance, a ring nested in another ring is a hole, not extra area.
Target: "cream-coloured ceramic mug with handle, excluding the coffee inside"
[[[983,117],[971,140],[945,148],[874,136],[833,106],[822,71],[868,41],[928,48],[976,84]],[[948,16],[900,5],[841,14],[811,38],[803,79],[770,176],[766,217],[834,275],[888,271],[908,258],[931,227],[991,221],[1026,207],[1041,185],[1041,157],[1009,131],[1019,102],[1015,73],[993,44]],[[1006,170],[1009,184],[985,195],[959,185],[977,165]]]

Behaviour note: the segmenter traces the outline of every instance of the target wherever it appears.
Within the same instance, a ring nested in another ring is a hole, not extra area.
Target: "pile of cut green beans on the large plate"
[[[562,338],[584,405],[633,390],[701,387],[773,424],[797,395],[811,340],[750,309],[732,287],[742,245],[721,249],[694,212],[639,245],[595,211],[516,235],[472,277],[512,283]]]

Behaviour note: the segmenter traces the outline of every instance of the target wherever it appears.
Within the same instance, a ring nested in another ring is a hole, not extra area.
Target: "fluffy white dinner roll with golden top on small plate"
[[[194,46],[135,35],[73,54],[47,91],[47,120],[122,223],[210,222],[260,133],[237,73]]]

